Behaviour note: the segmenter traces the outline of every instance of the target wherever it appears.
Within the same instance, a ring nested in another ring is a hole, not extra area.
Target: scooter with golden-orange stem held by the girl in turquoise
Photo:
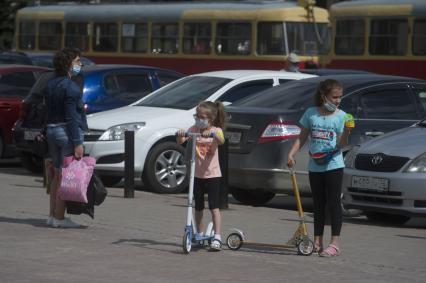
[[[232,229],[234,232],[229,234],[226,239],[226,245],[231,250],[239,250],[243,244],[252,246],[263,246],[269,248],[297,248],[299,255],[311,255],[314,251],[314,243],[308,236],[308,230],[305,223],[305,215],[302,208],[302,202],[300,201],[299,187],[297,186],[296,173],[293,167],[289,167],[291,181],[293,184],[294,196],[296,198],[297,211],[299,214],[299,227],[294,233],[293,237],[287,241],[286,244],[268,244],[268,243],[257,243],[247,241],[247,237],[241,230]]]

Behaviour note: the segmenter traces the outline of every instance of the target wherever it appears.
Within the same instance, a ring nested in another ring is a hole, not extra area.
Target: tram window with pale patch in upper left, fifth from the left
[[[148,24],[123,24],[121,35],[121,49],[124,52],[148,51]]]

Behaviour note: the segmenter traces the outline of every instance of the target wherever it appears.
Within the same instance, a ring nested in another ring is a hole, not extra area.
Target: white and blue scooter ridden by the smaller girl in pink
[[[190,132],[185,133],[185,137],[190,137],[188,142],[191,145],[187,216],[186,216],[186,226],[185,226],[183,241],[182,241],[182,248],[185,254],[188,254],[191,251],[192,245],[194,243],[204,246],[205,243],[210,244],[210,242],[214,238],[213,222],[210,222],[207,225],[204,235],[201,236],[197,231],[197,227],[194,221],[194,215],[192,213],[193,198],[194,198],[194,177],[195,177],[195,145],[196,145],[197,137],[199,136],[201,136],[200,133],[190,133]],[[210,137],[213,137],[213,134],[211,134]]]

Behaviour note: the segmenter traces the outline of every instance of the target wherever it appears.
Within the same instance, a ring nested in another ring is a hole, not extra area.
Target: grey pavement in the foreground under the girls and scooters
[[[0,282],[426,282],[425,219],[402,227],[345,219],[335,258],[245,246],[185,255],[185,194],[141,190],[126,199],[120,187],[108,193],[95,219],[71,216],[81,228],[50,228],[42,178],[19,163],[0,162]],[[303,203],[312,233],[311,202]],[[230,198],[222,236],[235,227],[249,240],[285,243],[298,225],[294,208],[288,196],[262,207]]]

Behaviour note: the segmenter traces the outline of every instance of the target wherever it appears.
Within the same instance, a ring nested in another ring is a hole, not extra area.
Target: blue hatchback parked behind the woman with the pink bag
[[[42,113],[37,112],[42,102],[44,86],[54,73],[46,74],[25,98],[22,118],[13,129],[17,150],[23,166],[31,172],[41,172],[42,158],[32,149],[32,142],[42,127]],[[73,79],[83,90],[83,102],[87,113],[109,110],[131,104],[176,79],[183,77],[175,71],[133,65],[84,66]]]

